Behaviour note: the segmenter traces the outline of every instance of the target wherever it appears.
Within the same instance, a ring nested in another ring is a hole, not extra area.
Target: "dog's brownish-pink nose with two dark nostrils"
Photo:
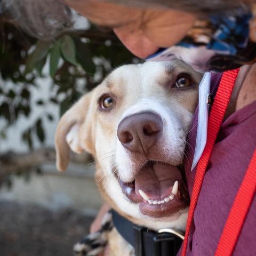
[[[152,112],[128,116],[119,123],[117,137],[130,151],[146,153],[155,145],[163,131],[163,121]]]

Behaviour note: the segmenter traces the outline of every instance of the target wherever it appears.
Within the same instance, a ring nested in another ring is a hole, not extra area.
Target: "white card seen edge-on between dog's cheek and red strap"
[[[208,94],[210,93],[210,84],[211,84],[211,73],[206,72],[204,73],[202,81],[199,84],[196,147],[195,147],[195,155],[194,155],[191,171],[194,169],[194,167],[198,163],[199,158],[201,157],[206,144],[208,113],[209,113],[209,105],[207,104],[207,98],[208,98]]]

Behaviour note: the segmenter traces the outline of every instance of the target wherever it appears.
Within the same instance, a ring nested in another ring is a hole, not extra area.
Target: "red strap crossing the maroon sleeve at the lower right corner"
[[[256,188],[256,150],[238,190],[227,222],[222,231],[215,256],[229,256],[233,253],[236,241],[243,227],[247,212],[250,209]]]

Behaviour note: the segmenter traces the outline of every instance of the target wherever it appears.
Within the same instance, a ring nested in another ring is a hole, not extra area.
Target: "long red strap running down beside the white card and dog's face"
[[[202,153],[202,156],[199,159],[197,164],[195,182],[194,182],[194,187],[193,187],[192,195],[190,199],[186,234],[185,234],[185,239],[183,242],[183,248],[181,252],[182,256],[186,255],[189,231],[191,228],[191,223],[193,221],[193,215],[195,212],[199,192],[202,187],[204,174],[206,171],[207,164],[209,163],[209,160],[212,154],[212,149],[213,149],[215,140],[217,138],[218,132],[220,130],[220,126],[230,100],[231,92],[233,90],[238,71],[239,69],[234,69],[234,70],[229,70],[223,73],[221,77],[220,85],[218,87],[218,91],[214,98],[212,110],[211,110],[209,121],[208,121],[206,145]]]

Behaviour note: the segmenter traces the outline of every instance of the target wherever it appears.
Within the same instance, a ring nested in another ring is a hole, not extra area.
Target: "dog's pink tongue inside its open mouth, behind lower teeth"
[[[144,191],[150,199],[159,199],[168,196],[175,180],[182,180],[177,166],[164,163],[153,163],[144,166],[135,178],[135,193],[139,189]]]

